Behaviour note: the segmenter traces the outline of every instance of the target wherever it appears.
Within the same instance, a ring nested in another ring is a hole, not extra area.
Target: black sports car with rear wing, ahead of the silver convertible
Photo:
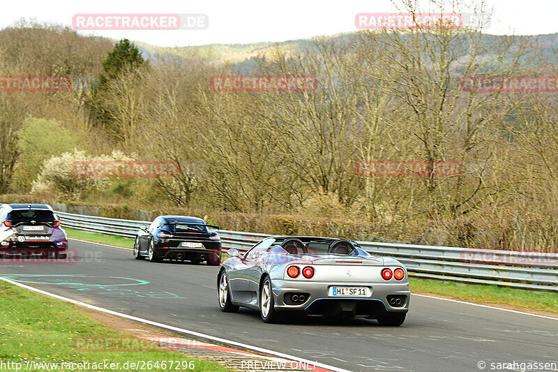
[[[150,262],[169,260],[221,263],[221,238],[218,226],[208,225],[202,218],[158,216],[151,225],[142,225],[135,237],[134,257],[147,256]]]

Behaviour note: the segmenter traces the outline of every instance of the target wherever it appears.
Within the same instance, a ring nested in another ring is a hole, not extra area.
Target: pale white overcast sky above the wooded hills
[[[489,34],[558,32],[558,0],[485,0],[485,3],[489,10],[493,10],[490,25],[485,29]],[[76,13],[202,13],[209,17],[209,27],[204,30],[80,31],[81,34],[129,38],[171,47],[332,35],[355,31],[356,13],[397,11],[390,0],[4,0],[2,5],[0,27],[13,24],[20,18],[71,26]]]

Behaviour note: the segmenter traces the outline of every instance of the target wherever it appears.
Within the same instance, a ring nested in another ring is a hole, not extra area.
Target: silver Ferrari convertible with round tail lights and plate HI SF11
[[[356,241],[274,236],[243,255],[236,248],[227,253],[217,277],[224,312],[243,306],[259,311],[264,322],[297,312],[399,326],[409,311],[405,267],[370,255]]]

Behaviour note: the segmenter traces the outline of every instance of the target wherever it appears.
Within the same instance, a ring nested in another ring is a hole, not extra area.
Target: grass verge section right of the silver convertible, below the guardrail
[[[409,278],[412,292],[443,295],[482,304],[506,304],[558,313],[558,296],[553,292],[521,290],[498,285],[465,284],[423,278]]]

